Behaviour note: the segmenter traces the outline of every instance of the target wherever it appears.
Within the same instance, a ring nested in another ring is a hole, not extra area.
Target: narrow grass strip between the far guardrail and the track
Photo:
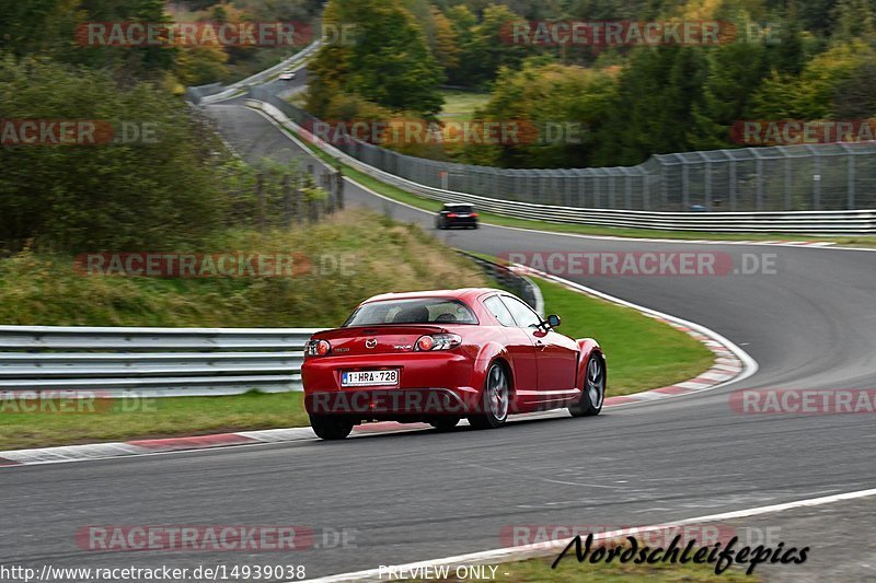
[[[296,132],[286,129],[290,135],[301,140],[308,149],[316,156],[332,164],[333,166],[343,170],[344,175],[353,178],[357,183],[367,186],[371,190],[397,200],[405,202],[412,207],[423,210],[436,212],[442,203],[425,198],[418,195],[411,194],[402,190],[399,187],[382,183],[371,176],[364,174],[347,164],[336,160],[335,158],[326,154],[316,145],[302,139]],[[493,214],[489,212],[481,212],[481,220],[485,223],[495,224],[499,226],[515,226],[518,229],[529,229],[537,231],[550,231],[554,233],[572,233],[579,235],[598,235],[598,236],[618,236],[618,237],[633,237],[633,238],[678,238],[688,241],[698,240],[712,240],[712,241],[823,241],[835,243],[844,246],[861,246],[861,247],[876,247],[876,237],[874,236],[812,236],[812,235],[789,235],[783,233],[711,233],[711,232],[685,232],[685,231],[660,231],[655,229],[621,229],[614,226],[599,226],[586,224],[566,224],[566,223],[552,223],[548,221],[531,221],[527,219],[515,219],[511,217],[503,217],[500,214]]]

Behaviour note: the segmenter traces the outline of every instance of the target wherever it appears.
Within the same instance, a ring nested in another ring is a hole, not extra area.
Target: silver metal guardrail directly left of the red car
[[[0,326],[0,392],[172,397],[301,390],[319,329]]]

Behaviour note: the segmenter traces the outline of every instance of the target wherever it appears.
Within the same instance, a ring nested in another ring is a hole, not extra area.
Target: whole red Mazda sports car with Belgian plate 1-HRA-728
[[[301,376],[313,431],[342,440],[369,421],[468,418],[498,428],[508,415],[567,407],[599,415],[606,357],[596,340],[554,331],[510,293],[466,289],[378,295],[307,345]]]

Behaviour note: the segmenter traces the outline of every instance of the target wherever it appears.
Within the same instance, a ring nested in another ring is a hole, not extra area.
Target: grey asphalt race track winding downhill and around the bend
[[[250,160],[313,163],[238,102],[209,112]],[[353,184],[346,199],[433,229],[430,214]],[[584,275],[555,263],[554,272],[712,328],[753,357],[759,371],[726,388],[615,408],[596,419],[5,468],[0,562],[301,564],[313,578],[506,547],[504,533],[515,525],[671,524],[876,483],[873,413],[753,415],[735,407],[733,396],[740,389],[876,386],[875,253],[601,240],[488,225],[436,235],[454,247],[533,261],[551,254],[713,254],[716,265],[729,261],[731,269]],[[769,268],[734,273],[756,260]],[[876,535],[873,506],[873,499],[863,499],[731,525],[812,548],[805,565],[759,569],[773,580],[866,580],[874,576],[874,550],[862,541]],[[292,552],[124,553],[83,549],[76,535],[87,525],[299,525],[314,536]]]

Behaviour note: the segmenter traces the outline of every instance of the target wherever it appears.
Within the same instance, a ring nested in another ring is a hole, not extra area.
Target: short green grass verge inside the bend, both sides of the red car
[[[708,350],[665,324],[555,283],[538,283],[548,310],[563,317],[560,331],[592,336],[606,349],[610,395],[684,381],[712,363]],[[301,397],[300,393],[251,393],[108,399],[82,412],[71,410],[69,404],[60,411],[58,404],[44,412],[19,412],[21,404],[0,400],[0,450],[304,427],[308,418]]]

